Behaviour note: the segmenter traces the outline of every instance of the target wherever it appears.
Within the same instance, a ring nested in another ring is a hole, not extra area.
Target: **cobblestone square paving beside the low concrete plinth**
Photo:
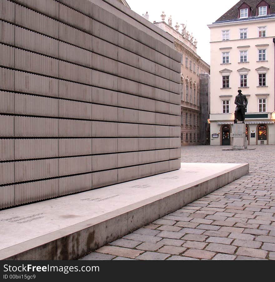
[[[249,163],[250,173],[83,260],[275,260],[275,145],[184,146],[182,162]]]

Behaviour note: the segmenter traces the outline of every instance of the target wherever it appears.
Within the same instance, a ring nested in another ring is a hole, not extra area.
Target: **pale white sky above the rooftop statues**
[[[193,32],[197,39],[197,54],[210,63],[210,30],[207,24],[215,22],[220,16],[233,7],[238,0],[126,0],[131,9],[139,15],[148,12],[149,21],[161,22],[162,11],[165,21],[172,16],[172,26],[187,22],[187,30]],[[179,27],[181,32],[182,26]]]

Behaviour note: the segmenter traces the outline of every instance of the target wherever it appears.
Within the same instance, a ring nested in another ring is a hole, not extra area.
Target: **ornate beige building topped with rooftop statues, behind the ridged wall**
[[[201,144],[200,127],[200,74],[210,74],[210,66],[197,55],[197,40],[178,22],[172,26],[171,16],[165,22],[164,12],[161,22],[154,24],[175,38],[175,49],[181,54],[181,146]],[[164,17],[163,17],[164,16]],[[203,126],[204,127],[204,126]]]

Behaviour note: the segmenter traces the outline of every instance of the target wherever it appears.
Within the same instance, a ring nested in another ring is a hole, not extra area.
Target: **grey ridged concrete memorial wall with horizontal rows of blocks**
[[[123,9],[1,0],[0,208],[180,167],[180,55]]]

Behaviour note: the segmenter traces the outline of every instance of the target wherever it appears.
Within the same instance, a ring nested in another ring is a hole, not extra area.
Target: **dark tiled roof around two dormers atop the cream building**
[[[266,16],[258,16],[258,7],[260,6],[267,6],[267,15]],[[249,16],[250,18],[262,18],[262,17],[270,17],[275,16],[275,0],[246,0],[246,1],[239,1],[237,2],[232,8],[230,8],[227,12],[225,12],[221,17],[219,17],[216,22],[225,22],[225,21],[232,21],[232,20],[242,20],[240,19],[240,9],[249,7]]]

